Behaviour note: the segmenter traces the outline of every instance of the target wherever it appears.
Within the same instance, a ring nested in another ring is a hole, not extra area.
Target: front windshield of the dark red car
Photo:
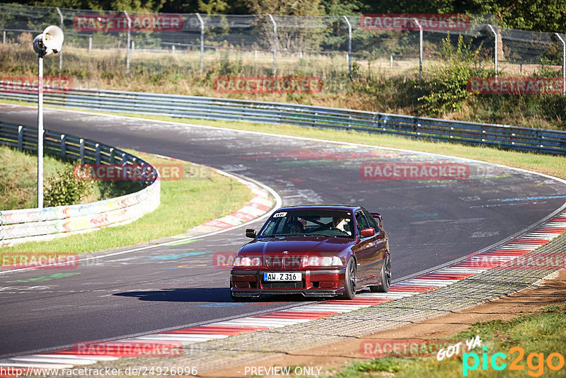
[[[345,210],[280,210],[272,214],[258,237],[330,236],[354,239],[352,213]]]

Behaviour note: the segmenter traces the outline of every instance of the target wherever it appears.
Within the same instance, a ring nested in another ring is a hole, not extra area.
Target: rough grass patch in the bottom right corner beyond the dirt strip
[[[551,371],[546,364],[538,365],[536,357],[531,353],[543,353],[546,362],[551,353],[565,356],[564,340],[566,340],[566,303],[545,307],[536,314],[524,315],[509,321],[485,321],[474,323],[466,331],[452,336],[452,340],[469,340],[479,335],[482,347],[487,347],[487,358],[490,360],[494,353],[504,353],[506,360],[497,357],[497,364],[507,363],[507,368],[501,372],[492,369],[490,362],[487,369],[482,368],[483,350],[475,348],[470,351],[478,355],[479,365],[476,370],[468,371],[468,377],[566,377],[566,368],[558,372]],[[521,347],[524,356],[517,361],[523,365],[522,371],[510,371],[509,365],[519,359],[519,351],[511,350]],[[466,350],[465,350],[466,351]],[[529,359],[531,365],[529,366]],[[473,357],[468,357],[468,364],[473,365]],[[553,364],[558,365],[558,358],[553,358]],[[394,372],[398,378],[412,377],[462,377],[463,357],[445,357],[438,361],[437,357],[383,357],[376,360],[351,362],[344,365],[333,377],[369,377],[380,375],[381,372]]]

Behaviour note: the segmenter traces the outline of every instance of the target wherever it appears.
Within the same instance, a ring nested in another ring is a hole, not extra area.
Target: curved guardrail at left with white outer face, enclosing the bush
[[[0,144],[21,151],[37,151],[37,130],[0,122]],[[44,151],[63,159],[80,160],[81,164],[114,164],[116,168],[126,164],[149,165],[120,149],[47,130],[44,133]],[[136,193],[81,205],[0,210],[0,246],[132,222],[155,210],[160,203],[161,181],[157,179],[148,184]]]

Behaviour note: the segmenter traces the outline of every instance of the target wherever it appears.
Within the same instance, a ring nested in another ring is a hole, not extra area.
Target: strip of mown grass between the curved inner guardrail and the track
[[[130,151],[150,164],[180,163]],[[161,181],[161,205],[135,222],[52,241],[0,248],[9,253],[83,253],[173,236],[234,212],[253,198],[245,185],[214,171],[183,162],[183,180]]]

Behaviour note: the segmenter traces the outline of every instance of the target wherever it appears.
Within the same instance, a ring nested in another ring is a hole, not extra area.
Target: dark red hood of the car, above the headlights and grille
[[[250,241],[240,249],[240,255],[308,256],[337,255],[354,244],[353,239],[327,236],[277,236]],[[287,251],[288,253],[283,253]]]

